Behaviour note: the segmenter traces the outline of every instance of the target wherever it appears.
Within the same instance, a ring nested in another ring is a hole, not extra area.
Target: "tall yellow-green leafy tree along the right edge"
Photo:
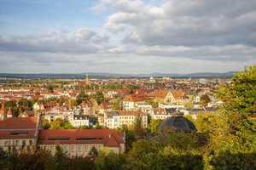
[[[218,86],[222,138],[208,161],[215,168],[253,169],[256,165],[256,65],[238,71],[230,84]],[[236,161],[234,161],[236,160]]]

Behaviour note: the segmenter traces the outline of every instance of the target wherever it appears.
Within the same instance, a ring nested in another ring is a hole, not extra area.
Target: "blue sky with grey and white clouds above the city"
[[[0,0],[1,73],[194,73],[256,64],[255,0]]]

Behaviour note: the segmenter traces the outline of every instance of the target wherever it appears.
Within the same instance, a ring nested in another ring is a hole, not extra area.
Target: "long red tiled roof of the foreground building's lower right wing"
[[[113,139],[109,139],[109,134]],[[49,139],[67,138],[67,140]],[[86,140],[86,138],[88,140]],[[94,139],[93,139],[94,138]],[[102,138],[102,139],[100,139]],[[84,139],[84,140],[81,140]],[[115,145],[125,143],[119,133],[114,129],[56,129],[40,130],[38,133],[38,144],[108,144]]]

